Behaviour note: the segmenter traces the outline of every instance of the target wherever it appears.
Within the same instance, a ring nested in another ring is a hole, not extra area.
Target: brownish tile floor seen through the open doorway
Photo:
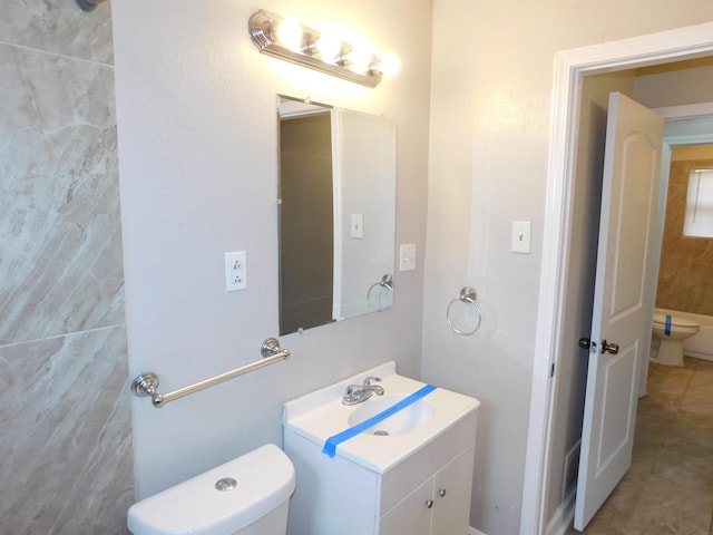
[[[713,362],[649,364],[632,467],[584,533],[713,535]]]

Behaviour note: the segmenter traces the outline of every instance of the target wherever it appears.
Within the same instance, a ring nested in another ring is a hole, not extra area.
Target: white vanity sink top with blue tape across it
[[[343,405],[346,386],[361,385],[367,377],[380,377],[378,385],[384,389],[384,395],[374,395],[358,405]],[[387,362],[289,401],[283,407],[283,426],[321,450],[331,437],[382,412],[424,386],[424,382],[397,374],[395,363]],[[412,405],[341,441],[336,455],[383,474],[478,407],[480,401],[475,398],[436,388]]]

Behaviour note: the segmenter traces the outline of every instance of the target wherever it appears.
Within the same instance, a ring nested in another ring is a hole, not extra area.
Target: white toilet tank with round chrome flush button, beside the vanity
[[[135,535],[285,535],[294,466],[267,444],[134,504]]]

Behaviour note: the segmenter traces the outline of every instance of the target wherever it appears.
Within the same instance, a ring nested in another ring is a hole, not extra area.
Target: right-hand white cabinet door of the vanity
[[[432,535],[467,535],[475,445],[446,465],[433,478]]]

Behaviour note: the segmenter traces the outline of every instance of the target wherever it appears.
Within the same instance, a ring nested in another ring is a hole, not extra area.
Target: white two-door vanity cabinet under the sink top
[[[467,535],[476,428],[473,410],[382,473],[285,428],[296,473],[289,535]]]

